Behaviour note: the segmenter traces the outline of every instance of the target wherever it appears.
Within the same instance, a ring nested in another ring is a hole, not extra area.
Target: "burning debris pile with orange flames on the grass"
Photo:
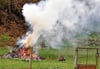
[[[4,57],[30,60],[30,48],[25,48],[25,47],[22,47],[20,49],[17,48],[16,51],[9,52]],[[38,54],[36,54],[35,52],[32,53],[32,58],[33,60],[41,60]]]

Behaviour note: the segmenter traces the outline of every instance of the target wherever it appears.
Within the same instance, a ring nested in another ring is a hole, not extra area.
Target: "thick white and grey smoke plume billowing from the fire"
[[[41,0],[25,4],[22,13],[33,31],[17,44],[34,46],[40,35],[52,47],[77,44],[77,35],[100,32],[100,0]]]

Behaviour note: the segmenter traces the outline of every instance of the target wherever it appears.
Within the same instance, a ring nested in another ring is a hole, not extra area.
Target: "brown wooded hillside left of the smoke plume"
[[[6,34],[5,37],[11,37],[12,39],[6,42],[0,41],[0,46],[14,45],[16,39],[21,37],[26,31],[24,17],[22,16],[22,6],[25,3],[34,2],[39,0],[0,0],[0,38]],[[6,44],[7,43],[7,44]]]

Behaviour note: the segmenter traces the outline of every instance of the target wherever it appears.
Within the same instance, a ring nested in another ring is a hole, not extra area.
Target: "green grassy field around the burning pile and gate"
[[[8,48],[0,48],[0,54],[6,54],[8,52]],[[33,61],[33,69],[74,69],[74,49],[41,49],[39,50],[39,55],[45,57],[45,60],[41,61]],[[58,61],[59,56],[64,56],[66,61]],[[95,59],[92,57],[93,55],[89,55],[89,63],[94,64]],[[81,59],[79,63],[85,63],[84,53],[79,56]],[[100,58],[99,58],[100,61]],[[100,64],[100,63],[99,63]],[[29,69],[29,61],[21,60],[21,59],[5,59],[0,58],[0,69]],[[100,65],[99,65],[100,69]]]

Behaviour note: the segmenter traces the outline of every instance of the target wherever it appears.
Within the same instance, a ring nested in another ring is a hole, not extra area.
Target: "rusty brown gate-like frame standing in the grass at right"
[[[79,50],[87,50],[87,54],[86,54],[86,64],[79,64],[78,60],[79,60]],[[96,58],[96,64],[87,64],[88,62],[88,50],[96,50],[96,54],[95,54],[95,58]],[[98,59],[99,59],[99,49],[98,48],[76,48],[76,52],[75,52],[75,69],[98,69]]]

